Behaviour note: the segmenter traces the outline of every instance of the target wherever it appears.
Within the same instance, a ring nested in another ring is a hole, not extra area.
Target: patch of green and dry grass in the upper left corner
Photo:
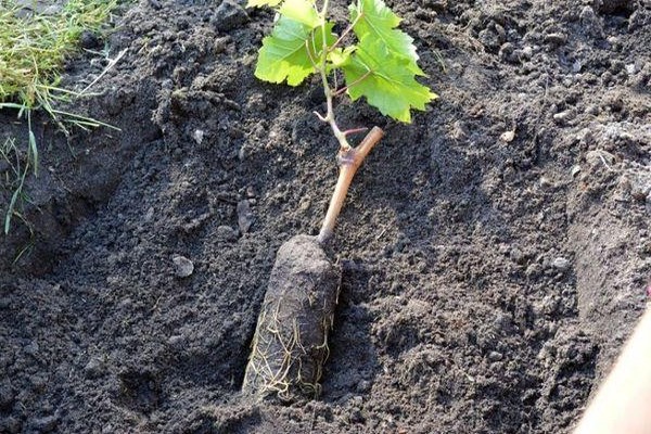
[[[36,4],[36,1],[34,2]],[[69,0],[53,14],[25,13],[14,0],[0,0],[0,110],[13,110],[28,126],[25,153],[14,138],[1,144],[3,158],[12,168],[5,170],[3,187],[13,193],[7,206],[4,232],[8,233],[17,203],[24,195],[27,171],[38,175],[39,152],[31,129],[31,113],[44,111],[59,128],[68,133],[69,125],[89,128],[107,126],[92,118],[59,110],[60,103],[77,94],[59,87],[65,60],[77,52],[84,30],[99,31],[111,16],[118,0]],[[21,162],[20,155],[24,154]],[[16,159],[17,158],[17,159]],[[16,166],[17,165],[17,166]],[[15,169],[17,167],[17,170]]]

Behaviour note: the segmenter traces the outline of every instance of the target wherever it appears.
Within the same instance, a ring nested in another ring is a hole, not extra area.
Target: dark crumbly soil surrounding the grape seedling
[[[319,84],[255,79],[268,11],[142,0],[71,107],[122,132],[36,127],[33,234],[0,244],[0,432],[569,432],[646,304],[651,4],[388,3],[441,99],[412,125],[337,107],[386,136],[332,243],[320,398],[240,393],[276,252],[335,182]]]

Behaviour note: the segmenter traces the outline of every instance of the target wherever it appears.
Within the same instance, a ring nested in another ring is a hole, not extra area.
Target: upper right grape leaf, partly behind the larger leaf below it
[[[350,22],[355,23],[353,31],[357,38],[371,35],[381,40],[388,51],[400,58],[409,60],[408,67],[416,75],[424,76],[425,73],[418,66],[418,54],[413,46],[413,38],[396,29],[401,18],[396,15],[382,0],[360,0],[349,5]]]

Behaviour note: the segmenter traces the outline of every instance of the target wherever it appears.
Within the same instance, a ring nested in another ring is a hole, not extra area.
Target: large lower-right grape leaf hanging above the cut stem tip
[[[409,59],[395,55],[382,40],[365,36],[342,65],[350,99],[366,97],[383,115],[410,123],[410,110],[424,111],[437,95],[416,80],[409,65]]]

